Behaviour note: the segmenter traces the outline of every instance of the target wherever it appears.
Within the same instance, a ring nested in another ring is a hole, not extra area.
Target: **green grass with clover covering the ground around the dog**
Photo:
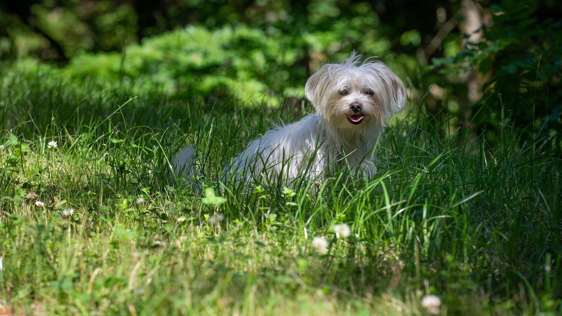
[[[16,314],[425,314],[427,294],[441,314],[562,313],[550,139],[505,127],[471,147],[414,106],[372,179],[233,187],[218,183],[228,159],[293,109],[4,78],[0,303]],[[197,179],[172,180],[167,160],[186,144]],[[205,187],[227,201],[204,204]]]

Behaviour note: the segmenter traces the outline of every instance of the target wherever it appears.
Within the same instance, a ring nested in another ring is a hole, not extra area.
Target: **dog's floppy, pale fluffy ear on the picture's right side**
[[[361,67],[375,76],[375,94],[384,107],[387,119],[404,109],[407,100],[406,87],[387,65],[375,61],[365,63]]]

